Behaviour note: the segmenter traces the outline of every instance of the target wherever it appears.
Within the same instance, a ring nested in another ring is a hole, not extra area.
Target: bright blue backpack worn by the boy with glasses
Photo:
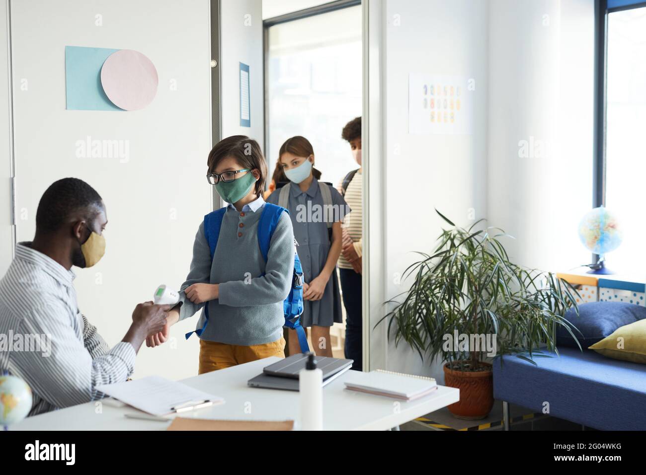
[[[215,248],[218,245],[220,227],[222,227],[222,218],[224,218],[224,213],[226,213],[226,211],[227,208],[224,207],[216,211],[212,211],[208,215],[204,216],[204,237],[209,243],[211,261],[213,261]],[[278,224],[278,219],[283,212],[289,214],[287,209],[271,203],[266,203],[262,209],[262,215],[260,215],[260,222],[258,223],[258,244],[260,244],[260,253],[262,253],[262,257],[265,262],[267,262],[271,236],[273,235],[274,229],[276,229],[276,224]],[[302,353],[309,352],[305,330],[300,324],[300,315],[303,313],[303,269],[300,266],[300,259],[298,259],[298,253],[296,250],[294,251],[294,271],[291,279],[291,290],[289,290],[289,295],[287,295],[287,299],[283,302],[283,309],[285,313],[285,326],[296,330],[300,351]],[[205,302],[204,304],[204,318],[205,321],[202,328],[199,328],[194,332],[186,333],[186,339],[188,339],[193,333],[197,333],[198,337],[202,335],[202,332],[209,323],[209,302]]]

